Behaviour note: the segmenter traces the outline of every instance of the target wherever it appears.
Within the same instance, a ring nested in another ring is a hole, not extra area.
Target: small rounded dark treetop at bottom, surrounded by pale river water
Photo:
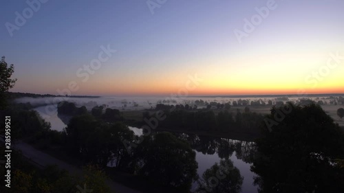
[[[197,192],[239,193],[243,180],[239,169],[233,166],[233,161],[222,159],[203,173],[202,179],[198,181],[200,187]]]

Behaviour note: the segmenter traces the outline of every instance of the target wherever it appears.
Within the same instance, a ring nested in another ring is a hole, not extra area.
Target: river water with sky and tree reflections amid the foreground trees
[[[142,135],[142,129],[129,126],[136,135]],[[221,160],[230,159],[233,166],[238,168],[244,181],[241,192],[258,192],[257,186],[253,185],[253,177],[256,175],[250,171],[252,166],[253,144],[249,141],[238,141],[233,139],[216,138],[208,136],[187,135],[175,133],[179,138],[189,141],[191,148],[196,152],[198,163],[197,174],[202,174]],[[220,181],[221,183],[221,181]],[[197,190],[198,183],[193,183],[191,191]]]

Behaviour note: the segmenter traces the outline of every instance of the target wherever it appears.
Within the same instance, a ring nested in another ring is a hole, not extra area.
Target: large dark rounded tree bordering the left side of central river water
[[[195,152],[187,141],[171,133],[157,133],[144,138],[138,146],[136,156],[142,164],[139,174],[158,182],[189,192],[197,177]]]

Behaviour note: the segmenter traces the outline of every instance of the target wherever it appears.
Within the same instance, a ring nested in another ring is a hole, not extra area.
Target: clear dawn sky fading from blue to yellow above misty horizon
[[[3,1],[10,91],[344,93],[344,1]]]

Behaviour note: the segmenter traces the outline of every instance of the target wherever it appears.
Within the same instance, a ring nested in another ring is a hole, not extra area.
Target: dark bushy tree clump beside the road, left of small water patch
[[[103,167],[116,159],[116,167],[125,167],[125,159],[129,155],[122,140],[133,139],[133,131],[127,126],[120,123],[109,125],[96,120],[92,115],[81,115],[70,120],[65,134],[65,148],[75,157]]]

